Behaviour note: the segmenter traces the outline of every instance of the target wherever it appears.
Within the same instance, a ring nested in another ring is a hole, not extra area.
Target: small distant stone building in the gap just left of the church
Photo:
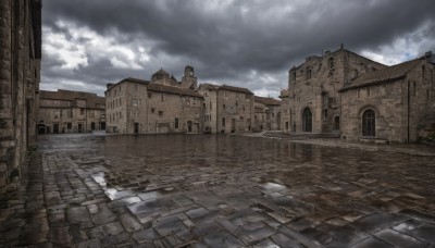
[[[254,131],[281,129],[281,101],[270,97],[253,97],[254,100]]]

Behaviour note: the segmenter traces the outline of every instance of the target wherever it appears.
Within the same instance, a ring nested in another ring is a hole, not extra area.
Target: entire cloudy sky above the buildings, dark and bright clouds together
[[[306,57],[345,48],[395,64],[435,52],[434,0],[45,0],[41,89],[103,96],[150,79],[247,87],[277,97]]]

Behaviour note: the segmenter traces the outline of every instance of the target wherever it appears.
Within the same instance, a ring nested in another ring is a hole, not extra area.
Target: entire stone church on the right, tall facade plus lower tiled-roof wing
[[[309,57],[289,70],[290,133],[417,141],[435,127],[434,71],[432,53],[394,66],[343,46]]]

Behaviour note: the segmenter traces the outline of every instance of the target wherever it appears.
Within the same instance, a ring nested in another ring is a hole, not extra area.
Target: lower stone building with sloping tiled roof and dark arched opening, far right
[[[435,59],[365,73],[339,90],[341,138],[414,142],[435,134]]]

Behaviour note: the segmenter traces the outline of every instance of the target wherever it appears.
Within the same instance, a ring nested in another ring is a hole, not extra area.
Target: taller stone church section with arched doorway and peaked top
[[[290,131],[339,133],[341,102],[338,90],[346,82],[386,65],[340,49],[312,55],[288,72]]]

